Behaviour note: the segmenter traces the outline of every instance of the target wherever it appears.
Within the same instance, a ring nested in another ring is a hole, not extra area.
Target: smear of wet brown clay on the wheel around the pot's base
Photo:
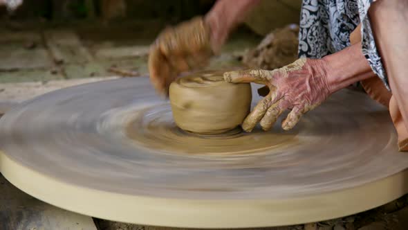
[[[237,159],[239,156],[263,155],[262,152],[266,150],[283,150],[288,143],[299,144],[296,131],[284,134],[281,131],[263,132],[257,129],[248,134],[234,129],[209,135],[185,132],[174,123],[168,105],[154,106],[131,114],[136,116],[124,125],[125,138],[149,150],[189,156],[229,155]]]

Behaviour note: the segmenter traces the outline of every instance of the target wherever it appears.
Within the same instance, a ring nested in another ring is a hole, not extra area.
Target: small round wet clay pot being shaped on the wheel
[[[250,112],[249,83],[228,83],[223,72],[178,78],[169,89],[176,125],[198,134],[220,134],[241,125]]]

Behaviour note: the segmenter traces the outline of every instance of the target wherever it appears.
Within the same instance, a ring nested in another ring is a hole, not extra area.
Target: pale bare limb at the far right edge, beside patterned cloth
[[[408,130],[408,4],[390,0],[372,3],[369,16],[375,44],[387,72],[389,85]]]

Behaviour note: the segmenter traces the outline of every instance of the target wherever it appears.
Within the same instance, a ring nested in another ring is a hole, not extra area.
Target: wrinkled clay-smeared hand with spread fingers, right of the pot
[[[301,58],[272,71],[253,69],[224,73],[227,82],[254,82],[270,89],[243,121],[243,130],[250,132],[257,123],[263,130],[270,130],[286,109],[292,111],[281,125],[284,130],[292,129],[303,114],[331,94],[324,63],[323,60]]]

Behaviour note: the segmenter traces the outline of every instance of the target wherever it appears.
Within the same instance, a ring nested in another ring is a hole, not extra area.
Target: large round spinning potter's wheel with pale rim
[[[408,192],[408,155],[387,110],[364,94],[338,92],[290,132],[279,123],[271,132],[189,134],[149,79],[108,80],[4,115],[0,169],[55,206],[171,227],[313,222]]]

